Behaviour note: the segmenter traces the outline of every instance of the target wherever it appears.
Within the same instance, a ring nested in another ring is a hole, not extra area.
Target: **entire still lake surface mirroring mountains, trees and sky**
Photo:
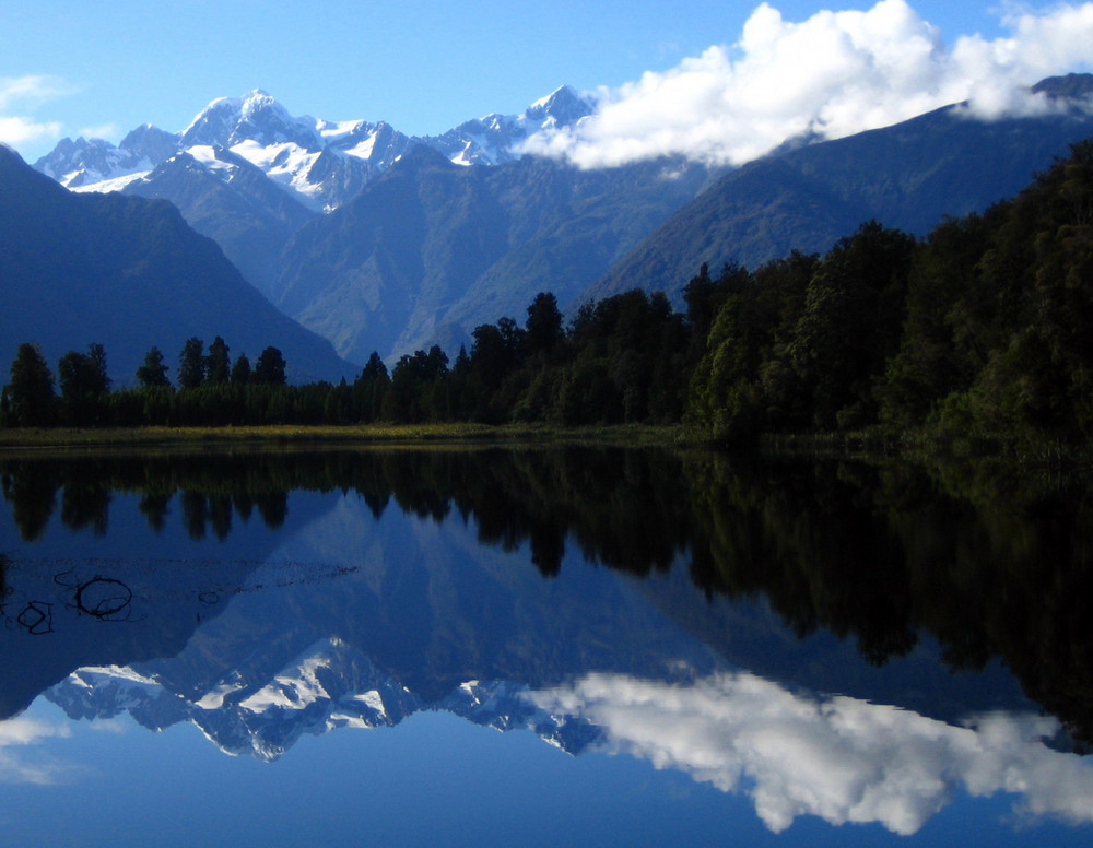
[[[1090,845],[1080,482],[0,458],[7,845]]]

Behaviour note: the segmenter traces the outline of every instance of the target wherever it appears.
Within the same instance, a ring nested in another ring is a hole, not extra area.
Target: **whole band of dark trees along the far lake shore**
[[[990,450],[1083,445],[1093,428],[1093,140],[983,214],[925,238],[863,223],[825,255],[706,266],[675,310],[632,290],[566,321],[541,293],[519,323],[474,329],[349,382],[287,385],[267,348],[234,362],[190,339],[174,382],[149,351],[111,390],[106,351],[70,351],[57,377],[32,342],[0,396],[4,426],[683,424],[748,444],[764,434],[926,435]]]

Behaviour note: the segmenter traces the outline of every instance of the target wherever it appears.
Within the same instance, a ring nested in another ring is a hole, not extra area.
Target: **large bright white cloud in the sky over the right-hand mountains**
[[[952,46],[905,0],[786,21],[756,8],[731,47],[598,93],[576,128],[528,140],[529,153],[581,167],[684,155],[742,164],[799,138],[833,139],[968,101],[980,117],[1050,108],[1027,87],[1089,69],[1093,2],[1003,16],[1009,35]]]

